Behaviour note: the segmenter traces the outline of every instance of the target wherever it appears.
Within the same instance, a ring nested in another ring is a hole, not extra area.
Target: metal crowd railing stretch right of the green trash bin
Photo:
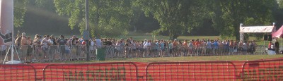
[[[267,54],[265,46],[256,46],[255,48],[243,49],[241,47],[219,46],[217,48],[207,48],[198,46],[187,48],[180,46],[178,48],[160,49],[155,46],[105,46],[106,58],[141,58],[141,57],[168,57],[168,56],[231,56],[231,55],[262,55]]]

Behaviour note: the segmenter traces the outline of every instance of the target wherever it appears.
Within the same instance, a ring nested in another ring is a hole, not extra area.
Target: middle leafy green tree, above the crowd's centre
[[[207,15],[204,1],[200,0],[137,0],[135,1],[146,15],[153,14],[161,28],[158,32],[169,32],[175,39],[183,32],[199,27]]]

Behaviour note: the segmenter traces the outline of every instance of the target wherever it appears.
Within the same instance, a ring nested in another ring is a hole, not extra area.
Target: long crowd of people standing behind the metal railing
[[[135,40],[132,37],[128,39],[96,37],[89,39],[89,43],[91,54],[95,54],[96,48],[105,48],[109,58],[254,54],[257,47],[253,40],[237,42],[219,39]],[[31,39],[23,32],[16,38],[15,44],[21,51],[20,58],[25,61],[35,58],[62,60],[83,57],[86,51],[86,41],[75,35],[70,38],[65,38],[63,35],[60,37],[35,35],[35,38]]]

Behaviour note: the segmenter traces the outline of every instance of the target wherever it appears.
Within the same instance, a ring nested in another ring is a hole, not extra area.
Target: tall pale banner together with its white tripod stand
[[[1,1],[1,35],[4,35],[2,37],[3,39],[3,45],[10,45],[9,49],[6,53],[4,61],[6,61],[6,57],[8,54],[10,54],[11,50],[11,61],[6,62],[6,64],[17,64],[21,63],[21,60],[18,56],[19,61],[14,60],[14,52],[16,51],[15,48],[15,39],[14,39],[14,32],[13,32],[13,0],[0,0]],[[8,37],[8,38],[7,38]],[[1,44],[2,45],[2,44]],[[18,54],[18,53],[17,53]],[[4,62],[3,62],[4,63]]]

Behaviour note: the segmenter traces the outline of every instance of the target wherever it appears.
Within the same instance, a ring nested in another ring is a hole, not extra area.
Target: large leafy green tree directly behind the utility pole
[[[69,16],[71,28],[85,30],[85,0],[54,0],[59,15]],[[132,3],[128,0],[90,0],[89,23],[93,36],[126,35],[132,18]]]

